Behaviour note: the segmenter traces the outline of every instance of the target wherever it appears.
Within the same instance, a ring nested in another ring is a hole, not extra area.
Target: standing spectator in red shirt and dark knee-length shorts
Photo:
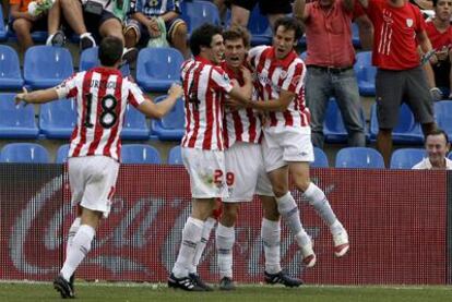
[[[402,101],[407,102],[427,136],[436,123],[427,78],[420,67],[418,45],[432,50],[419,9],[406,0],[359,0],[373,23],[372,64],[377,67],[377,149],[390,166],[392,131]],[[430,58],[435,62],[435,56]]]

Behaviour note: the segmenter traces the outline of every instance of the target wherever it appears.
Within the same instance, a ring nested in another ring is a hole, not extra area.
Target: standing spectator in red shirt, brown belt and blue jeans
[[[311,138],[323,148],[323,122],[330,97],[335,97],[348,145],[366,146],[362,106],[353,65],[352,44],[353,0],[321,0],[305,3],[296,0],[294,15],[305,24],[308,47],[306,64],[306,101],[311,112]]]

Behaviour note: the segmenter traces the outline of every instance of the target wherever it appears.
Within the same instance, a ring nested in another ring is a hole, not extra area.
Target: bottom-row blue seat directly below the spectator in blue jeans
[[[336,168],[384,169],[381,154],[367,147],[346,147],[336,155]]]

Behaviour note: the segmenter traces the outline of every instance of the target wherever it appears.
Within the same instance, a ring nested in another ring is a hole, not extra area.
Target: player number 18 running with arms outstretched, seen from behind
[[[121,133],[126,106],[130,102],[151,118],[162,118],[182,95],[173,85],[168,97],[158,104],[146,99],[136,84],[122,77],[122,41],[117,37],[102,40],[100,67],[83,71],[57,87],[17,94],[16,104],[44,104],[59,98],[76,98],[78,123],[69,149],[68,172],[72,202],[81,207],[81,216],[69,229],[67,255],[53,287],[62,298],[74,298],[73,274],[90,252],[102,217],[110,212],[121,153]]]

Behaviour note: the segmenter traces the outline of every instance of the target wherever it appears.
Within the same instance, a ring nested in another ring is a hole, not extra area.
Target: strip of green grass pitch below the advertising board
[[[307,302],[447,302],[452,301],[452,287],[329,287],[304,286],[296,289],[271,286],[240,286],[236,291],[183,292],[164,285],[79,282],[73,301],[307,301]],[[62,301],[50,282],[0,283],[0,301]],[[68,301],[68,300],[64,300]]]

